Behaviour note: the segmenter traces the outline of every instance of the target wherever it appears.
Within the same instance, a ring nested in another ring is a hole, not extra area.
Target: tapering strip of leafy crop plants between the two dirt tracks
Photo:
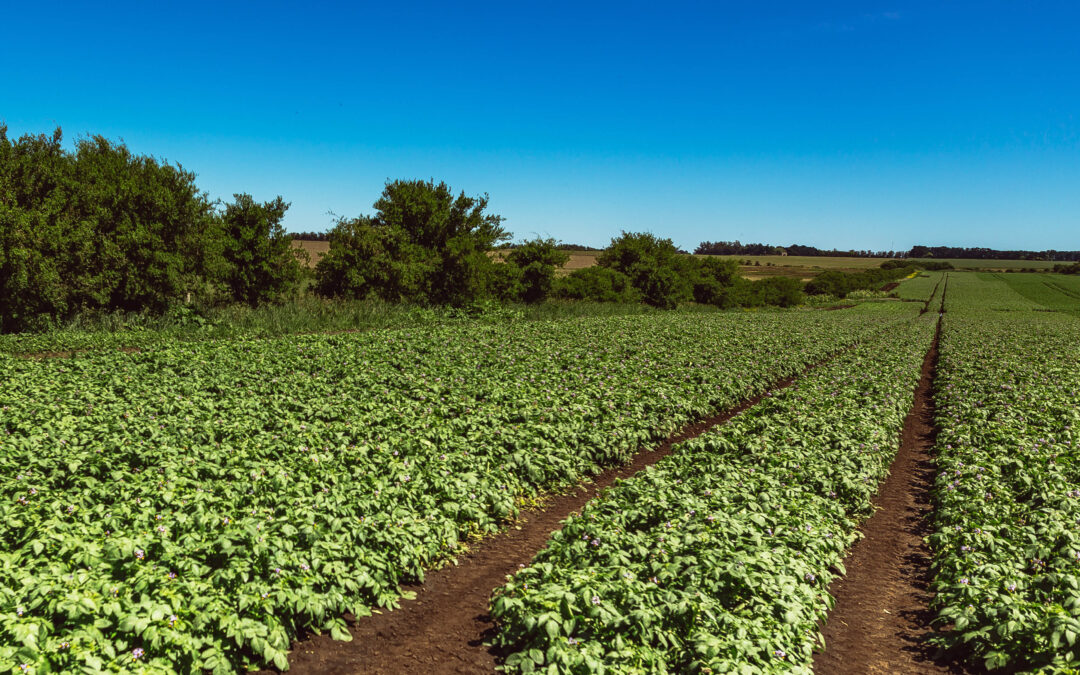
[[[565,521],[492,598],[508,670],[809,673],[935,323],[894,325]]]

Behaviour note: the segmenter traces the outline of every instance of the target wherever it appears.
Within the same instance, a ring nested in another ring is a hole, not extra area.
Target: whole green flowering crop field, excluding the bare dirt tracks
[[[929,272],[842,311],[0,353],[0,669],[287,667],[295,639],[350,639],[523,514],[767,394],[539,532],[483,590],[488,639],[512,672],[808,672],[942,298],[933,639],[1076,667],[1077,292]]]

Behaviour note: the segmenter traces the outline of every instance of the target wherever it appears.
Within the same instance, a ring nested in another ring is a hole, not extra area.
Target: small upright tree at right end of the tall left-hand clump
[[[229,294],[252,306],[281,301],[295,291],[303,271],[281,225],[288,204],[281,197],[261,204],[251,194],[232,197],[221,216]]]

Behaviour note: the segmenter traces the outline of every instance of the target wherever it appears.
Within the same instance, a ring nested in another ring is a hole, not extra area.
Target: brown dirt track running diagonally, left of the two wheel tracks
[[[532,559],[564,518],[580,511],[615,481],[670,455],[673,445],[726,422],[800,377],[787,378],[769,392],[686,427],[661,445],[638,453],[631,463],[605,471],[568,495],[554,497],[542,510],[523,513],[509,530],[459,556],[456,566],[429,572],[423,584],[404,586],[403,591],[416,593],[415,599],[401,600],[400,609],[394,611],[356,621],[350,627],[352,642],[336,642],[324,634],[294,644],[288,657],[289,674],[495,672],[498,654],[484,645],[495,631],[487,613],[491,592],[505,582],[507,575]]]

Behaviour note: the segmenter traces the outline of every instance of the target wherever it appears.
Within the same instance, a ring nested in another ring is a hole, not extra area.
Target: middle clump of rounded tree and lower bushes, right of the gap
[[[733,260],[686,256],[672,240],[642,232],[623,232],[599,253],[596,266],[558,276],[569,255],[555,240],[502,248],[510,234],[501,216],[486,212],[487,195],[455,194],[444,183],[388,183],[374,207],[372,215],[341,218],[330,229],[329,252],[314,270],[315,293],[451,306],[563,298],[665,309],[691,301],[792,306],[802,299],[798,281],[747,282]]]

